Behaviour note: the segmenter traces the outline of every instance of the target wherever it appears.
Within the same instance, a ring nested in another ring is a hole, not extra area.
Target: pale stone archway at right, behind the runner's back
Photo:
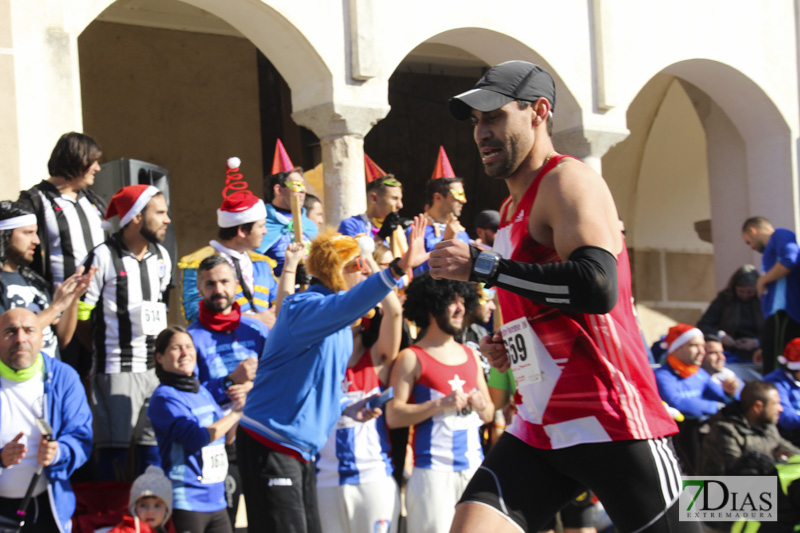
[[[796,226],[790,130],[747,76],[699,59],[655,75],[627,119],[631,135],[603,167],[628,228],[636,298],[693,322],[738,266],[760,264],[741,240],[745,218]]]

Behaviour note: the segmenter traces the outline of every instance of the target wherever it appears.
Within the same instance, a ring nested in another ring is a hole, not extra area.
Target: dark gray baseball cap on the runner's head
[[[450,99],[450,113],[467,120],[472,110],[483,113],[500,109],[514,100],[535,102],[545,97],[550,110],[556,107],[556,84],[539,65],[527,61],[506,61],[490,68],[475,87]]]

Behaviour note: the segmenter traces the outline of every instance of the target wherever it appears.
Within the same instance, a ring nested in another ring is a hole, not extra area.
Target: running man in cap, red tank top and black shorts
[[[450,100],[510,196],[493,251],[442,242],[431,274],[498,288],[505,324],[481,352],[513,369],[521,400],[451,531],[537,531],[584,486],[620,531],[700,531],[678,521],[677,428],[633,313],[614,201],[591,168],[553,149],[555,96],[549,73],[509,61]]]

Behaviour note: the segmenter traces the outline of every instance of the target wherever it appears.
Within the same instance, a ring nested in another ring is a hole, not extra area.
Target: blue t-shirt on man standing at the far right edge
[[[800,322],[800,247],[793,231],[778,228],[769,238],[761,258],[761,269],[766,273],[780,263],[791,272],[778,281],[767,285],[761,297],[764,317],[773,315],[781,309],[786,310],[792,320]]]

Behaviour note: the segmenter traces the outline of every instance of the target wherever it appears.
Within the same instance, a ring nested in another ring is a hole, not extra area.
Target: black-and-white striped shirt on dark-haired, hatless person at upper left
[[[73,200],[59,193],[49,182],[39,184],[37,189],[44,205],[55,287],[75,273],[89,250],[105,240],[103,213],[83,191],[78,191],[78,199]]]

